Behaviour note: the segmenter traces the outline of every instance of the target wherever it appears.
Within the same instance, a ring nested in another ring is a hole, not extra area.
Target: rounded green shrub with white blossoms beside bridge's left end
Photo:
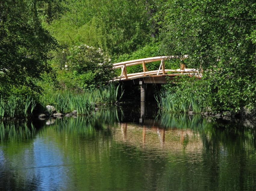
[[[80,88],[103,85],[114,77],[111,59],[100,48],[82,44],[63,51],[67,56],[64,69],[72,72]]]

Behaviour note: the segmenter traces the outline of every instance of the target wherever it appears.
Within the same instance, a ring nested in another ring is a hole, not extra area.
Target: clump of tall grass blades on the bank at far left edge
[[[27,118],[32,115],[35,109],[36,101],[28,96],[11,96],[8,100],[0,99],[0,118]]]

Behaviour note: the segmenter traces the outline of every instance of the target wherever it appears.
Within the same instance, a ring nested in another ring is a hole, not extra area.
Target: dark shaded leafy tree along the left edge
[[[0,93],[11,93],[11,87],[26,85],[42,71],[51,70],[47,64],[49,52],[57,41],[42,28],[38,19],[36,0],[6,0],[0,6]]]

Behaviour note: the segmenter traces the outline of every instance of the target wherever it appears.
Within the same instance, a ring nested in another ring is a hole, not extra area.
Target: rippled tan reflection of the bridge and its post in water
[[[173,151],[201,153],[203,147],[199,133],[191,129],[164,128],[156,119],[148,119],[145,102],[141,102],[139,124],[120,122],[114,138],[120,142],[138,147],[164,148]],[[185,148],[184,148],[185,147]]]

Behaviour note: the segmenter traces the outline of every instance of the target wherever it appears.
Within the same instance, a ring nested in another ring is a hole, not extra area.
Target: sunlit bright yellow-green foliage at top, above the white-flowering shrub
[[[144,1],[67,1],[68,11],[45,27],[62,44],[81,43],[112,53],[128,53],[148,38]]]

